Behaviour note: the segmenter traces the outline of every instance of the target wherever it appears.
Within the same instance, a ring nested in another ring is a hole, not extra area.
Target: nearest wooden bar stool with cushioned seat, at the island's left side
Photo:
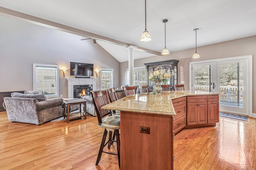
[[[118,164],[120,168],[120,115],[112,115],[112,111],[108,109],[101,109],[102,106],[108,104],[107,100],[107,92],[106,90],[91,92],[92,100],[94,103],[94,107],[98,117],[98,127],[105,128],[102,141],[100,144],[100,150],[98,153],[98,157],[96,160],[96,165],[100,162],[100,158],[102,156],[102,152],[107,154],[114,154],[118,156]],[[114,133],[116,135],[116,145],[117,145],[117,153],[104,151],[104,147],[108,144],[108,149],[110,149],[112,143],[112,131],[110,129],[114,129]],[[109,134],[108,134],[109,131]],[[108,135],[108,141],[106,141],[106,137]]]

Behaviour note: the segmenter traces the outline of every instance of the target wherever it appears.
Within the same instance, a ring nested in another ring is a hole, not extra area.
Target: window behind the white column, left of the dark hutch
[[[129,70],[127,69],[127,82],[129,82]],[[145,67],[134,68],[134,86],[148,84],[148,72]]]

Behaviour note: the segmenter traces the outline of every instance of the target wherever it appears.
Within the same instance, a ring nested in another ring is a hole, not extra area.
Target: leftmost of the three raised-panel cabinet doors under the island
[[[197,125],[197,103],[187,104],[187,123],[188,125]]]

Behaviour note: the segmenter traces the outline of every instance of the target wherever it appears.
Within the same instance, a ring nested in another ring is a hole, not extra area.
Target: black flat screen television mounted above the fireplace
[[[93,64],[70,62],[70,76],[93,76]]]

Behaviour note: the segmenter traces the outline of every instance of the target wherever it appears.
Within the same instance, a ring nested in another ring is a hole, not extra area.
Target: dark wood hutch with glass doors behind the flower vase
[[[156,62],[152,62],[152,63],[144,63],[144,65],[146,66],[146,69],[148,71],[148,76],[150,73],[153,73],[153,71],[161,66],[162,69],[167,69],[167,70],[174,70],[175,75],[171,76],[170,81],[166,82],[166,84],[170,84],[171,86],[171,90],[174,90],[174,84],[177,84],[177,80],[178,80],[178,60],[165,60],[165,61],[156,61]],[[153,82],[148,80],[148,86],[153,86]]]

